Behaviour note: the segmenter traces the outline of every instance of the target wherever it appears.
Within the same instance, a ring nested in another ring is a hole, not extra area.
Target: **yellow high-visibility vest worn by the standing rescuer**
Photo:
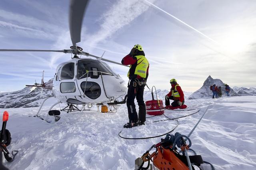
[[[143,55],[136,55],[134,57],[137,59],[137,66],[135,68],[134,74],[139,75],[142,78],[146,78],[149,65],[148,60]],[[130,68],[132,68],[132,65],[130,65]],[[127,76],[130,76],[130,70],[128,71]]]

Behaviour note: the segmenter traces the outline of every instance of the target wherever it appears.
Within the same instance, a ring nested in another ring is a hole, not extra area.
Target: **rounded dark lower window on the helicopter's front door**
[[[85,87],[86,85],[86,87]],[[96,82],[82,82],[81,83],[81,88],[84,92],[84,94],[91,99],[96,99],[98,97],[100,97],[101,94],[101,90],[100,90],[100,85],[97,84]]]

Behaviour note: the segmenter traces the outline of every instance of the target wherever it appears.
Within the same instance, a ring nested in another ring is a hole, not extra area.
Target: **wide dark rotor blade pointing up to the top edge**
[[[69,29],[73,46],[81,41],[84,12],[89,0],[70,0]]]

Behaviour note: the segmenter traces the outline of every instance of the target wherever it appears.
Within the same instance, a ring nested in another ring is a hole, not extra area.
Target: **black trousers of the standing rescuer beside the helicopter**
[[[146,105],[143,100],[143,92],[145,85],[139,86],[134,80],[130,81],[128,85],[126,105],[128,108],[129,122],[146,121]],[[134,99],[138,102],[139,117],[136,112]]]

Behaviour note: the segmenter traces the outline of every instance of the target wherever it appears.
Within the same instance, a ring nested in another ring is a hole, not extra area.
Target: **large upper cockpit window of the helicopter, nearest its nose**
[[[85,60],[79,60],[78,61],[78,70],[77,70],[78,79],[86,78],[87,75],[88,75],[88,77],[90,77],[90,75],[92,73],[90,73],[89,71],[94,71],[93,68],[94,68],[94,70],[95,70],[95,68],[97,68],[98,71],[102,72],[102,75],[111,75],[112,74],[99,61],[97,61],[97,60],[86,60],[85,59]],[[98,75],[100,74],[100,72],[98,73]]]

